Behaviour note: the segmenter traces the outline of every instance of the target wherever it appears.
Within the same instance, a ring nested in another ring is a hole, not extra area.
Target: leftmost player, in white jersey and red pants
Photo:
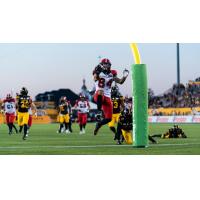
[[[6,124],[9,128],[9,134],[12,134],[12,129],[15,129],[15,132],[18,133],[17,128],[14,125],[16,118],[16,102],[11,94],[7,94],[6,99],[3,100],[2,108],[6,115]]]

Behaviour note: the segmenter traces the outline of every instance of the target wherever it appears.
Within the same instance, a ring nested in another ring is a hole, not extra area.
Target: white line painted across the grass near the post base
[[[200,143],[183,143],[183,144],[151,144],[149,147],[156,146],[191,146],[191,145],[200,145]],[[68,148],[101,148],[101,147],[132,147],[132,145],[88,145],[88,146],[13,146],[13,147],[0,147],[0,149],[34,149],[34,148],[55,148],[55,149],[68,149]]]

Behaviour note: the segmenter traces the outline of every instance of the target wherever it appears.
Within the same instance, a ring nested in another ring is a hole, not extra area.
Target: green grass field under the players
[[[150,134],[163,133],[172,125],[150,124]],[[77,124],[72,134],[56,133],[58,124],[33,125],[27,140],[22,134],[7,133],[7,126],[0,126],[1,155],[200,155],[200,124],[181,125],[187,139],[158,139],[158,144],[148,148],[133,148],[130,145],[116,145],[113,134],[107,126],[97,136],[88,124],[86,134],[79,135]]]

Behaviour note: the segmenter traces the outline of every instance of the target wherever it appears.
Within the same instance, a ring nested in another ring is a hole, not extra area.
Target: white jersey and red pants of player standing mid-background
[[[80,125],[87,123],[87,113],[90,108],[90,104],[87,100],[78,100],[75,104],[75,107],[78,109],[78,122]]]

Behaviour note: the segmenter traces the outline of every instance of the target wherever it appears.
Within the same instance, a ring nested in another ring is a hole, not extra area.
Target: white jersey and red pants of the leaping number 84
[[[94,100],[97,102],[98,91],[103,90],[103,102],[102,110],[104,112],[105,118],[112,118],[112,100],[111,100],[111,86],[114,77],[117,75],[117,71],[111,70],[109,74],[101,72],[98,76],[99,79],[95,82],[96,93],[94,95]]]

